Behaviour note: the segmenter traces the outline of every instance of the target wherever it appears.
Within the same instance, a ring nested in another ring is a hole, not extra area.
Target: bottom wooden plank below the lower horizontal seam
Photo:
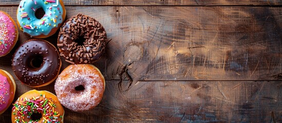
[[[16,81],[20,85],[19,81]],[[86,112],[65,108],[65,122],[281,122],[278,81],[106,81],[101,103]],[[53,85],[39,88],[53,92]],[[32,88],[18,86],[16,97]],[[10,122],[11,111],[0,116]]]

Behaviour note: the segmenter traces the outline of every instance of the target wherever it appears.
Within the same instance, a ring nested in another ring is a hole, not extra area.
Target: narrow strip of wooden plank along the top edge
[[[17,6],[20,2],[18,0],[0,0],[0,5],[13,5]],[[281,5],[279,0],[64,0],[66,6],[265,6],[265,5]]]

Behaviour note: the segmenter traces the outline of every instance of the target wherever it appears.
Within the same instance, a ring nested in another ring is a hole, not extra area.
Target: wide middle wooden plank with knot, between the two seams
[[[0,7],[14,19],[15,9]],[[282,8],[67,7],[66,18],[77,13],[99,20],[111,39],[94,64],[108,80],[276,80],[282,73]],[[57,35],[46,39],[55,45]],[[20,32],[15,48],[27,39]],[[0,58],[1,69],[12,72],[15,48]]]

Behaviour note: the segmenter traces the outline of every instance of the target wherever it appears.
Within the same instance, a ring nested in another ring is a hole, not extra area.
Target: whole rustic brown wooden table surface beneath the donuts
[[[16,20],[17,0],[0,1]],[[105,27],[106,79],[99,106],[65,108],[65,122],[282,122],[282,1],[65,0],[67,17],[83,13]],[[45,38],[57,44],[58,33]],[[11,58],[30,36],[0,57]],[[62,69],[69,63],[63,61]],[[15,99],[32,90],[16,80]],[[14,99],[14,100],[15,100]],[[11,108],[0,115],[11,122]]]

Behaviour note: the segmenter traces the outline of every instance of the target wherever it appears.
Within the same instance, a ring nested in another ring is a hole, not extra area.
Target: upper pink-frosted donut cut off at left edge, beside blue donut
[[[0,11],[0,57],[8,54],[16,44],[18,31],[12,17]]]

